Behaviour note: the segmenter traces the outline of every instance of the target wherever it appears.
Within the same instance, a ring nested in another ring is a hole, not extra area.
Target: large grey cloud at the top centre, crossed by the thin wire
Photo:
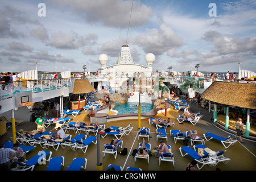
[[[131,1],[122,0],[52,0],[52,5],[63,7],[67,10],[69,7],[73,14],[84,19],[90,24],[101,23],[107,27],[127,28],[131,13]],[[133,2],[133,12],[140,11],[137,20],[137,26],[142,26],[148,22],[148,18],[152,16],[152,10],[146,5],[140,5],[139,2]]]

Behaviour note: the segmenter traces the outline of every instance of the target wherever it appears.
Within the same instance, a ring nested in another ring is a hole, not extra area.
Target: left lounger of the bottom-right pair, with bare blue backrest
[[[184,157],[185,155],[189,155],[189,156],[191,156],[191,158],[195,159],[197,162],[196,166],[199,169],[201,169],[204,165],[208,164],[209,166],[212,166],[214,164],[213,158],[209,157],[208,154],[200,156],[200,155],[198,155],[198,152],[193,150],[191,147],[188,147],[188,146],[180,147],[179,150],[180,150],[181,156]],[[183,154],[183,152],[185,154]],[[199,163],[202,164],[201,167],[199,167]]]

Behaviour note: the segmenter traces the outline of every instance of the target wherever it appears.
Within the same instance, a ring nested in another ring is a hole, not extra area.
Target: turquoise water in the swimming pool
[[[153,109],[153,105],[141,102],[141,113],[147,113]],[[139,102],[127,102],[126,104],[121,104],[119,102],[115,102],[115,108],[117,110],[117,114],[125,114],[125,113],[139,113]]]

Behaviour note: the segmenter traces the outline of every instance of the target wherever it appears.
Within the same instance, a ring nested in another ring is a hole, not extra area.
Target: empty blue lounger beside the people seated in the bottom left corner
[[[49,155],[48,159],[46,157]],[[52,156],[51,151],[39,151],[38,154],[36,154],[31,159],[28,159],[27,162],[15,162],[17,166],[15,168],[12,168],[12,171],[27,171],[31,170],[33,171],[36,164],[44,164],[45,161],[49,161],[49,159]],[[43,160],[43,161],[42,161]]]

